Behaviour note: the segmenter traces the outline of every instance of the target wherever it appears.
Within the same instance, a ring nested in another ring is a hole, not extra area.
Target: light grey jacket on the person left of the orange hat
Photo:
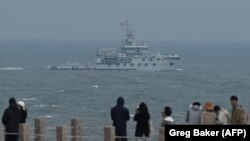
[[[191,125],[197,125],[201,122],[202,108],[199,105],[190,105],[187,110],[186,123]]]

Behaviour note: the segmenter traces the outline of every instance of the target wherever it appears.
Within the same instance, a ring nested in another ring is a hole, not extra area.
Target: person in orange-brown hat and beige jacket
[[[211,102],[206,102],[203,106],[204,111],[201,113],[201,125],[215,125],[216,114]]]

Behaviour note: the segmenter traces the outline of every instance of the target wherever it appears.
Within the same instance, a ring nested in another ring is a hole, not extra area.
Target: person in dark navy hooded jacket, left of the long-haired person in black
[[[111,108],[111,119],[115,127],[115,135],[123,138],[116,138],[116,141],[127,141],[127,121],[129,121],[129,110],[124,107],[123,97],[118,97],[117,105]]]

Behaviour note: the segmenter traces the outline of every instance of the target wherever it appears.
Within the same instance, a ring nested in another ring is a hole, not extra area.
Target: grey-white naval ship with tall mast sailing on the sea
[[[125,38],[120,48],[102,48],[96,53],[93,64],[71,64],[65,66],[50,66],[53,70],[140,70],[161,71],[176,70],[180,60],[177,54],[161,54],[148,51],[144,41],[136,44],[133,30],[128,21],[125,26]]]

